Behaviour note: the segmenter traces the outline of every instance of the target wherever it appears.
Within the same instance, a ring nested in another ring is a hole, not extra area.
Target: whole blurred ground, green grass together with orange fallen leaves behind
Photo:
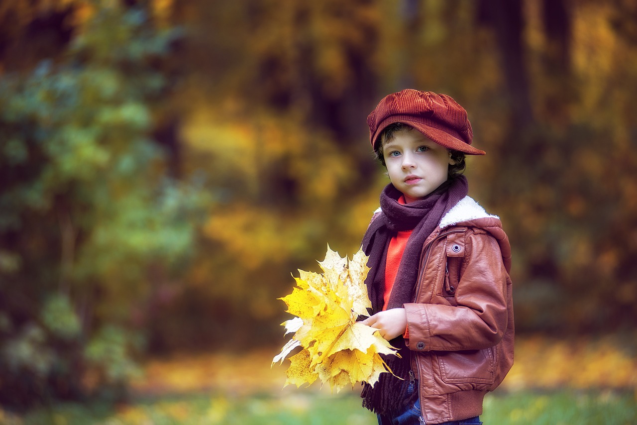
[[[487,425],[637,424],[636,339],[568,342],[519,338],[515,364],[487,394]],[[183,354],[148,359],[127,404],[58,404],[15,415],[0,407],[0,425],[375,425],[359,387],[332,394],[316,384],[283,387],[276,349]],[[596,390],[599,388],[599,390]]]

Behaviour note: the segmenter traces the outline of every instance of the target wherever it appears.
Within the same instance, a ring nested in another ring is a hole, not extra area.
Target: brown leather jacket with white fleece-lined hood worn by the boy
[[[513,364],[511,247],[500,220],[462,199],[423,245],[405,304],[412,370],[427,424],[482,414]]]

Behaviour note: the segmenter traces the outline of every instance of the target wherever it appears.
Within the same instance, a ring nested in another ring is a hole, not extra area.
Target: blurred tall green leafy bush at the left
[[[63,57],[0,79],[0,396],[18,406],[86,394],[89,371],[125,384],[148,270],[183,273],[210,203],[148,136],[178,32],[117,3],[91,13]]]

